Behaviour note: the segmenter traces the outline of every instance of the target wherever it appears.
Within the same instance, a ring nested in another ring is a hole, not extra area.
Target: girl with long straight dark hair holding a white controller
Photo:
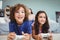
[[[41,33],[48,33],[49,32],[49,24],[47,14],[44,11],[38,11],[35,16],[35,23],[32,28],[32,37],[35,40],[42,40]],[[52,38],[49,37],[49,40]]]

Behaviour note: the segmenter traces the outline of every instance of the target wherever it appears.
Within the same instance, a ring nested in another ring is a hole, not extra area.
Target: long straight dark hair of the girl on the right
[[[45,11],[38,11],[36,16],[35,16],[35,23],[34,23],[34,29],[35,29],[35,34],[39,34],[39,22],[38,22],[38,16],[39,14],[44,13],[46,15],[46,22],[45,24],[43,24],[42,26],[42,33],[48,33],[48,29],[49,29],[49,23],[48,23],[48,18],[47,18],[47,14]]]

